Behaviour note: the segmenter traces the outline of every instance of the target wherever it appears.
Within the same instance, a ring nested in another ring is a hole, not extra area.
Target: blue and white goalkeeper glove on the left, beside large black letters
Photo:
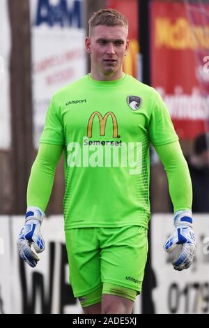
[[[45,249],[45,241],[40,234],[40,225],[44,216],[45,215],[38,207],[28,207],[24,227],[20,231],[20,235],[17,239],[17,248],[20,257],[29,264],[30,267],[36,267],[39,261],[36,253],[41,253]],[[33,245],[36,253],[31,250],[31,245]]]

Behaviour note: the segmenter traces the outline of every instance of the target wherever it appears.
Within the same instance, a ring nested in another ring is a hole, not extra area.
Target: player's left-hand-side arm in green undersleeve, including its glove
[[[38,156],[33,163],[27,191],[27,211],[24,227],[17,239],[17,248],[22,260],[31,267],[39,261],[36,253],[45,249],[45,241],[40,233],[40,225],[44,218],[52,192],[56,165],[59,162],[63,146],[40,144]],[[36,253],[31,250],[31,245]]]

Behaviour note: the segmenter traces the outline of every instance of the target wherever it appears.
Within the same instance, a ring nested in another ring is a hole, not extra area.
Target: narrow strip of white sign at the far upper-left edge
[[[10,147],[10,23],[8,1],[1,0],[0,10],[0,149]]]

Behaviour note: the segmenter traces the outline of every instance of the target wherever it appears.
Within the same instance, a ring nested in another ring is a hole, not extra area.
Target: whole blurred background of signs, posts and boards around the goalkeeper
[[[100,8],[129,21],[124,71],[160,92],[189,165],[197,252],[175,272],[162,245],[173,230],[167,176],[151,152],[150,253],[135,313],[209,313],[209,1],[0,0],[0,313],[82,313],[68,285],[63,159],[54,179],[37,269],[15,241],[49,100],[90,70],[88,19]]]

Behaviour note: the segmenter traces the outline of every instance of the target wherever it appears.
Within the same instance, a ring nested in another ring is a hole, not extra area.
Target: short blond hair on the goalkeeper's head
[[[128,29],[127,18],[114,9],[100,9],[93,13],[93,16],[88,21],[89,36],[91,35],[92,29],[98,25],[106,25],[108,27],[119,25]]]

